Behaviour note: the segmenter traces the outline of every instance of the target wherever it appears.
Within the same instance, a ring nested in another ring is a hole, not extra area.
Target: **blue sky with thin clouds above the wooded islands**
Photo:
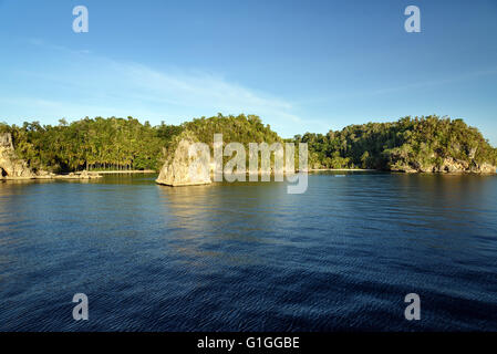
[[[282,137],[436,114],[497,146],[497,1],[0,0],[0,122],[217,113]]]

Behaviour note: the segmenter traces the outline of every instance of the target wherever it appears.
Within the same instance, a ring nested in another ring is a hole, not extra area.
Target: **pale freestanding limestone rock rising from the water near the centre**
[[[201,152],[189,156],[189,148],[198,139],[189,132],[178,135],[166,152],[167,158],[156,179],[159,185],[172,187],[208,185],[211,183],[210,160],[201,159]],[[195,162],[200,162],[195,164]]]

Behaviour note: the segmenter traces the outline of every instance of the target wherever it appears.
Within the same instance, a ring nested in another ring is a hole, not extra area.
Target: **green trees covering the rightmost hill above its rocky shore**
[[[420,169],[446,157],[497,165],[497,149],[462,119],[404,117],[394,123],[350,125],[327,135],[306,133],[311,168]]]

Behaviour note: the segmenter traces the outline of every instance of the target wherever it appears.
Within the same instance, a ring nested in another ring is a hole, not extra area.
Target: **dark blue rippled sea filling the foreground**
[[[495,176],[154,178],[0,184],[0,330],[497,331]]]

